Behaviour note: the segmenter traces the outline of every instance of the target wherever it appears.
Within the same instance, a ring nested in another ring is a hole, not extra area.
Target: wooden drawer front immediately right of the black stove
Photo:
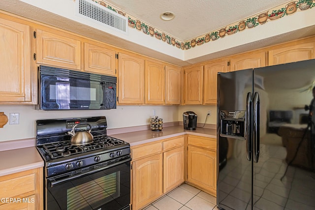
[[[140,146],[131,149],[131,157],[133,160],[147,155],[152,155],[162,151],[162,142]]]

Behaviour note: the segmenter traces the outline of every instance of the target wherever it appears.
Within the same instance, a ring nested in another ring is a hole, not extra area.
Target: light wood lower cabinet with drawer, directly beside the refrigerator
[[[217,196],[216,139],[188,136],[187,181],[205,192]]]

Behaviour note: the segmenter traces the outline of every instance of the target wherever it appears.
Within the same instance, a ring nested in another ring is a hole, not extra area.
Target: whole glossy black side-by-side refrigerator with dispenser
[[[219,209],[315,209],[314,86],[315,60],[218,74]]]

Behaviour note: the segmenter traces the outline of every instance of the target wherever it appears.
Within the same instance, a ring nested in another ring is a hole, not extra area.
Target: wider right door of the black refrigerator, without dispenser
[[[315,60],[253,72],[253,209],[315,209]]]

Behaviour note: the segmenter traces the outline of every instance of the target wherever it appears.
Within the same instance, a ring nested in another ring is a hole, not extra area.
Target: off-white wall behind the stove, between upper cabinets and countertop
[[[117,109],[101,111],[42,111],[35,110],[34,105],[0,105],[0,112],[4,112],[8,118],[9,113],[20,113],[18,125],[7,123],[0,128],[0,142],[36,137],[36,120],[106,116],[108,128],[120,128],[150,124],[149,120],[154,117],[153,110],[164,122],[179,119],[178,106],[117,106]]]

